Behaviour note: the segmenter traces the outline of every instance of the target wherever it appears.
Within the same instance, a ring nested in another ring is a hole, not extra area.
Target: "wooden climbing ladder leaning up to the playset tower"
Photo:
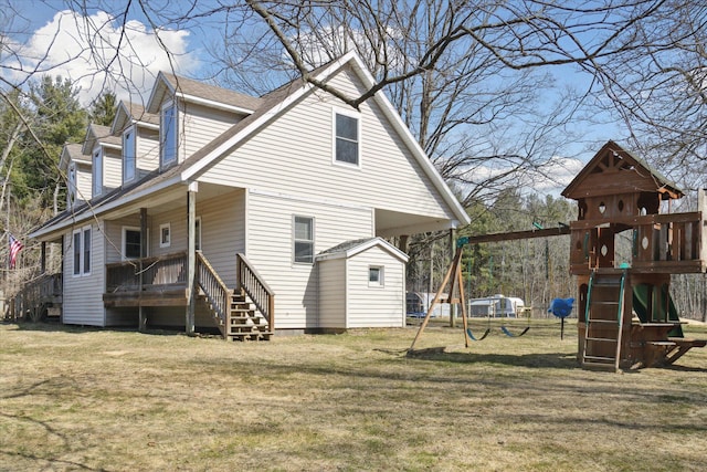
[[[626,271],[589,276],[584,312],[584,348],[582,367],[619,370],[624,312]]]

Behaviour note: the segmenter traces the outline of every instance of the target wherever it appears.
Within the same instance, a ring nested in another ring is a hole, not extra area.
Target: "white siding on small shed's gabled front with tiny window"
[[[381,268],[383,284],[371,286],[369,270]],[[382,250],[370,248],[348,260],[347,328],[405,325],[405,264]]]

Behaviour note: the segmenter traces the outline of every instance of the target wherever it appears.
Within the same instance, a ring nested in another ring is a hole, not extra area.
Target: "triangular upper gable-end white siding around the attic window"
[[[360,91],[352,88],[351,77],[339,73],[330,85],[355,96]],[[310,94],[207,170],[200,180],[297,195],[303,200],[454,219],[437,189],[372,101],[360,107],[365,165],[352,172],[346,166],[331,164],[333,108],[342,106],[325,93]],[[287,149],[285,154],[283,149]]]

